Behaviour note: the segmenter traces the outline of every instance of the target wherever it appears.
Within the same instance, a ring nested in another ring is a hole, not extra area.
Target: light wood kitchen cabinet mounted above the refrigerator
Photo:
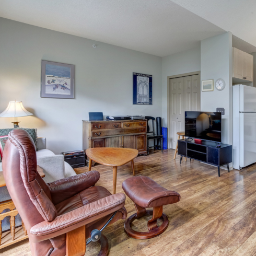
[[[233,77],[253,82],[253,56],[233,47]]]

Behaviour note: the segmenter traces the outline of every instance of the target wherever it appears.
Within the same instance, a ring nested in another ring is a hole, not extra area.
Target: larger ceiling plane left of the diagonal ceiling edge
[[[157,56],[225,32],[170,0],[0,0],[0,17]]]

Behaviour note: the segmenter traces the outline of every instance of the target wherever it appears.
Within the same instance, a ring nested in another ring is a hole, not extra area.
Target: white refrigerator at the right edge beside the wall
[[[240,170],[256,162],[256,88],[233,89],[233,167]]]

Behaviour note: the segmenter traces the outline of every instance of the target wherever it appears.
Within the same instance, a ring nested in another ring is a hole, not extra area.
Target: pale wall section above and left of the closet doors
[[[167,77],[200,71],[200,47],[162,58],[162,125],[167,127]]]

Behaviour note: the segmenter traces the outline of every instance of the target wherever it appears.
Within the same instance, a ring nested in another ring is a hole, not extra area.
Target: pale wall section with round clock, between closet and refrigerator
[[[201,111],[225,108],[222,116],[222,142],[232,144],[232,34],[226,32],[201,41],[201,80],[222,78],[226,87],[201,91]]]

